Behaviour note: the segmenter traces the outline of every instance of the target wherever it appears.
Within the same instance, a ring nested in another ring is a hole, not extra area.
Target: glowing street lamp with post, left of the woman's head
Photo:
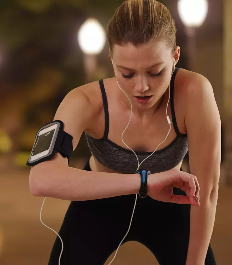
[[[96,19],[87,19],[80,26],[78,42],[84,54],[85,83],[89,83],[94,80],[97,55],[102,52],[105,46],[105,30]]]

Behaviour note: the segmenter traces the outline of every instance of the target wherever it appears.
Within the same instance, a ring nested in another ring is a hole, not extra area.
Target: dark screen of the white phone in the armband
[[[55,129],[48,131],[44,134],[38,135],[38,139],[33,149],[32,156],[35,156],[49,149],[54,132],[55,132]]]

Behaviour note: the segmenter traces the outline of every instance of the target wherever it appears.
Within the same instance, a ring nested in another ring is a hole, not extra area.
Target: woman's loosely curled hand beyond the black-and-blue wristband
[[[174,195],[173,187],[185,191],[187,196]],[[157,201],[198,206],[199,191],[196,176],[176,168],[147,176],[147,195]]]

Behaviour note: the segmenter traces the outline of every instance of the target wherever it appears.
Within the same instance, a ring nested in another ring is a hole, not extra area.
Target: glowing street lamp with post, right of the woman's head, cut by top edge
[[[196,56],[194,35],[196,28],[199,28],[206,19],[208,2],[207,0],[178,0],[178,12],[185,25],[185,33],[188,39],[188,64],[190,70],[193,70]]]

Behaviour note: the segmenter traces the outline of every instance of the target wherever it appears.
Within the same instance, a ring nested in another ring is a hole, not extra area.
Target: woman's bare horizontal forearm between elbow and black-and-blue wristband
[[[30,179],[34,196],[69,201],[138,194],[141,182],[140,174],[94,172],[67,166],[41,169]]]

